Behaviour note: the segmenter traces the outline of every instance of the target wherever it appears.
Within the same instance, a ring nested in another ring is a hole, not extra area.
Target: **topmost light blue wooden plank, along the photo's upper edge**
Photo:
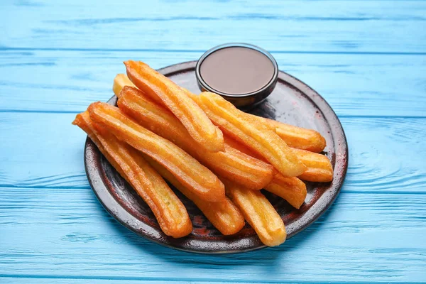
[[[29,3],[29,4],[28,4]],[[424,1],[2,1],[5,48],[425,53]],[[22,19],[25,19],[23,24]]]

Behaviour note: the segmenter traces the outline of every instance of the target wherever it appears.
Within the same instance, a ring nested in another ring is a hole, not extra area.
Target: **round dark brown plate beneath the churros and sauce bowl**
[[[165,67],[159,72],[180,86],[199,93],[195,78],[196,63],[184,62]],[[116,97],[112,97],[109,103],[116,104]],[[334,180],[327,183],[308,182],[305,204],[300,209],[294,209],[280,197],[264,192],[283,218],[290,238],[315,222],[339,194],[348,166],[346,137],[336,114],[320,94],[285,72],[279,73],[277,85],[268,99],[251,113],[315,129],[327,140],[324,154],[332,161]],[[112,168],[89,138],[84,150],[84,165],[95,195],[109,214],[131,231],[157,244],[196,253],[237,253],[265,247],[248,224],[238,234],[222,236],[202,212],[173,186],[190,214],[194,229],[189,236],[180,239],[166,236],[148,205]]]

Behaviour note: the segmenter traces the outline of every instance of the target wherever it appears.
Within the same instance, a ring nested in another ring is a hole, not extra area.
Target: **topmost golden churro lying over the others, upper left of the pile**
[[[210,152],[224,150],[222,131],[177,84],[143,62],[129,60],[124,65],[131,82],[154,100],[160,99],[197,143]]]

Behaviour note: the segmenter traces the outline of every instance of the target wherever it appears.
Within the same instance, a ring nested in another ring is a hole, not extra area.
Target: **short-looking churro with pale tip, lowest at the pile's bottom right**
[[[226,195],[236,204],[266,246],[283,244],[287,234],[283,219],[260,191],[246,190],[228,180],[222,180]]]

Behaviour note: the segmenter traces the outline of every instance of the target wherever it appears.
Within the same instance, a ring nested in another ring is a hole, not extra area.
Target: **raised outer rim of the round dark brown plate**
[[[163,75],[174,75],[177,73],[185,72],[185,70],[195,70],[195,65],[197,64],[197,60],[187,61],[187,62],[180,62],[174,65],[169,65],[167,67],[163,67],[158,69],[157,71],[162,73]],[[279,70],[278,72],[278,80],[281,80],[285,82],[286,84],[290,84],[290,86],[295,87],[295,89],[300,90],[305,97],[311,100],[315,106],[322,111],[322,114],[324,115],[324,118],[327,119],[327,123],[330,126],[330,129],[333,131],[333,137],[334,132],[338,132],[339,137],[342,138],[341,144],[339,144],[339,150],[343,150],[344,153],[341,153],[344,157],[343,162],[343,168],[340,173],[342,173],[338,180],[337,180],[337,186],[334,187],[334,189],[331,192],[331,196],[326,196],[324,192],[321,197],[315,202],[317,204],[317,211],[316,214],[314,214],[311,217],[308,217],[305,222],[302,222],[302,225],[298,226],[297,229],[290,231],[290,233],[287,235],[287,239],[290,239],[292,236],[295,236],[296,234],[299,234],[301,231],[306,229],[308,226],[313,224],[317,219],[319,219],[324,212],[331,207],[331,205],[336,200],[337,196],[339,195],[339,192],[342,190],[342,186],[344,185],[344,179],[346,178],[346,172],[348,169],[349,164],[349,148],[347,146],[347,140],[346,135],[344,133],[344,129],[342,126],[342,123],[339,121],[339,118],[337,114],[334,112],[334,109],[328,104],[328,102],[320,95],[318,94],[314,89],[312,89],[309,85],[305,84],[301,80],[298,80],[296,77],[293,77],[292,75],[288,74],[287,72],[283,72]],[[305,90],[304,90],[305,89]],[[311,94],[307,94],[307,92],[310,92]],[[114,95],[111,97],[111,99],[108,100],[109,104],[115,104],[116,103],[116,96]],[[325,109],[324,109],[325,108]],[[326,113],[325,113],[326,112]],[[330,125],[330,121],[332,121],[332,125]],[[337,127],[337,129],[335,129]],[[334,137],[335,138],[335,137]],[[336,149],[335,153],[337,154],[337,143],[334,141],[334,148]],[[186,237],[180,238],[180,239],[173,239],[168,236],[161,236],[164,235],[163,232],[160,229],[154,228],[148,224],[145,224],[143,221],[137,219],[133,214],[128,212],[115,198],[111,195],[109,192],[107,186],[104,184],[104,180],[107,180],[107,177],[104,175],[104,171],[102,170],[102,167],[99,166],[100,159],[96,160],[94,158],[99,157],[99,150],[96,146],[94,146],[94,143],[91,141],[89,137],[87,137],[85,143],[84,143],[84,169],[87,175],[87,180],[89,181],[89,185],[92,188],[92,191],[94,192],[94,195],[97,197],[97,200],[99,203],[102,204],[102,207],[107,210],[107,212],[116,219],[120,224],[125,226],[127,229],[130,229],[133,231],[133,233],[137,234],[138,236],[142,236],[144,239],[147,239],[149,241],[153,241],[155,244],[160,244],[161,246],[165,246],[171,249],[177,249],[179,251],[186,251],[190,253],[202,253],[202,254],[230,254],[230,253],[243,253],[248,251],[256,251],[258,249],[264,249],[267,246],[261,244],[260,240],[258,239],[258,236],[249,236],[244,239],[249,239],[248,243],[249,246],[243,247],[243,248],[237,248],[237,249],[225,249],[222,250],[222,248],[219,248],[217,250],[206,250],[206,249],[194,249],[193,246],[191,246],[189,243],[190,241],[200,241],[197,239],[187,240],[185,243]],[[336,155],[336,163],[337,165],[337,155]],[[90,163],[94,163],[97,165],[96,167],[92,167]],[[334,170],[334,175],[336,174],[336,170]],[[336,177],[334,176],[334,179]],[[333,183],[335,180],[333,180]],[[327,198],[327,202],[321,202],[323,198]],[[314,204],[314,205],[315,205]],[[314,206],[312,205],[312,207]],[[311,207],[311,208],[312,208]],[[112,209],[114,208],[114,210]],[[301,216],[305,216],[307,212],[302,214]],[[138,228],[135,228],[135,225],[138,225]],[[288,229],[288,226],[286,226],[286,229]],[[160,236],[157,238],[154,238],[152,235],[153,233],[156,233]],[[183,244],[180,246],[176,246],[175,242],[170,242],[170,238],[174,241],[176,240],[182,240]],[[160,241],[158,240],[160,239]],[[241,240],[241,239],[240,239]],[[253,244],[253,241],[257,244],[255,246],[250,246],[250,244]],[[211,241],[209,241],[211,242]],[[225,242],[226,243],[226,242]],[[187,247],[189,246],[189,247]]]

